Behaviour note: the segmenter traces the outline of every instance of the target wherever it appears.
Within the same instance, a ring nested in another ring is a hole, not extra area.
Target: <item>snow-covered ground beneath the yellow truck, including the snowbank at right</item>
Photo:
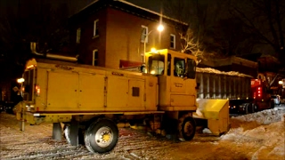
[[[284,113],[284,109],[260,113],[269,117],[266,125],[260,124],[258,114],[235,117],[226,135],[196,134],[187,142],[120,129],[117,147],[104,155],[92,154],[84,146],[71,147],[65,140],[52,140],[52,124],[27,124],[26,131],[20,132],[15,116],[1,113],[0,159],[284,159]],[[255,124],[244,120],[252,117]]]

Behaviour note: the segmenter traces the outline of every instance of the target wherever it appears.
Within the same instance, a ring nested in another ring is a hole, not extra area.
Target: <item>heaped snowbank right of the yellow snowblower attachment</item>
[[[232,117],[232,127],[220,142],[232,141],[240,152],[248,150],[251,159],[281,159],[285,156],[284,116],[285,108]]]

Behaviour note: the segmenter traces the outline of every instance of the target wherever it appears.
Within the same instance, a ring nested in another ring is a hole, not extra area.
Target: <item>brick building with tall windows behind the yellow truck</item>
[[[76,46],[82,63],[105,68],[142,63],[143,53],[151,48],[180,51],[179,33],[188,28],[186,23],[123,0],[94,1],[71,16],[69,24],[70,44]],[[160,32],[159,25],[164,27]]]

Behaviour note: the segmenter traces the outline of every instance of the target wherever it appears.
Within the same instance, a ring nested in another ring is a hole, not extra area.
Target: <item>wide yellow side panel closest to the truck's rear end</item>
[[[76,110],[78,108],[77,95],[77,73],[48,72],[47,108],[45,110]]]

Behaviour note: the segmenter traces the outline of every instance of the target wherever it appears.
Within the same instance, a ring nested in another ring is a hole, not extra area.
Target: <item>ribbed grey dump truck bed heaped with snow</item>
[[[251,97],[251,76],[238,72],[222,72],[213,68],[197,68],[198,99],[247,100]]]

